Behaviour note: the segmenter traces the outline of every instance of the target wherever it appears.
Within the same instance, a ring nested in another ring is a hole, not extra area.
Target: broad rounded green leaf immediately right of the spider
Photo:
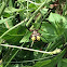
[[[53,42],[57,37],[56,28],[53,25],[49,24],[48,22],[42,23],[41,30],[39,30],[39,32],[44,38],[44,42],[45,40],[48,40],[49,42]],[[41,38],[42,41],[43,38]]]

